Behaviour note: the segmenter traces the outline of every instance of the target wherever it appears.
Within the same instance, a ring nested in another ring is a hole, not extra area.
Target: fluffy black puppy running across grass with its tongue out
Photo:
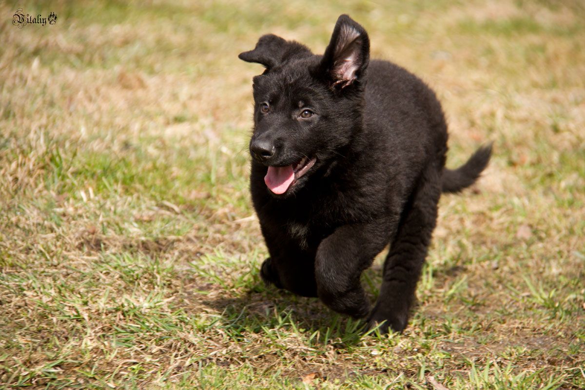
[[[366,30],[342,15],[323,56],[273,34],[240,54],[266,67],[253,78],[250,190],[270,253],[264,281],[369,315],[382,332],[400,331],[441,192],[471,185],[491,146],[446,169],[447,126],[435,94],[369,53]],[[360,275],[388,244],[370,311]]]

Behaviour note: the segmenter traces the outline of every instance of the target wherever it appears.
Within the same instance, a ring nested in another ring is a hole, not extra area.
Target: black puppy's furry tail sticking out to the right
[[[442,191],[459,192],[472,185],[490,162],[492,145],[477,149],[467,163],[455,170],[443,168]]]

